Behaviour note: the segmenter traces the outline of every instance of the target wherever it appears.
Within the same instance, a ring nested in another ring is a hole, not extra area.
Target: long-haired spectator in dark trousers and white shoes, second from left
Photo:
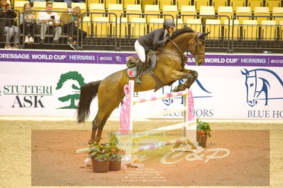
[[[23,35],[25,35],[24,42],[26,44],[33,44],[34,33],[35,33],[35,15],[33,12],[30,12],[31,6],[30,3],[23,5],[23,10],[20,14],[20,28],[23,30]]]

